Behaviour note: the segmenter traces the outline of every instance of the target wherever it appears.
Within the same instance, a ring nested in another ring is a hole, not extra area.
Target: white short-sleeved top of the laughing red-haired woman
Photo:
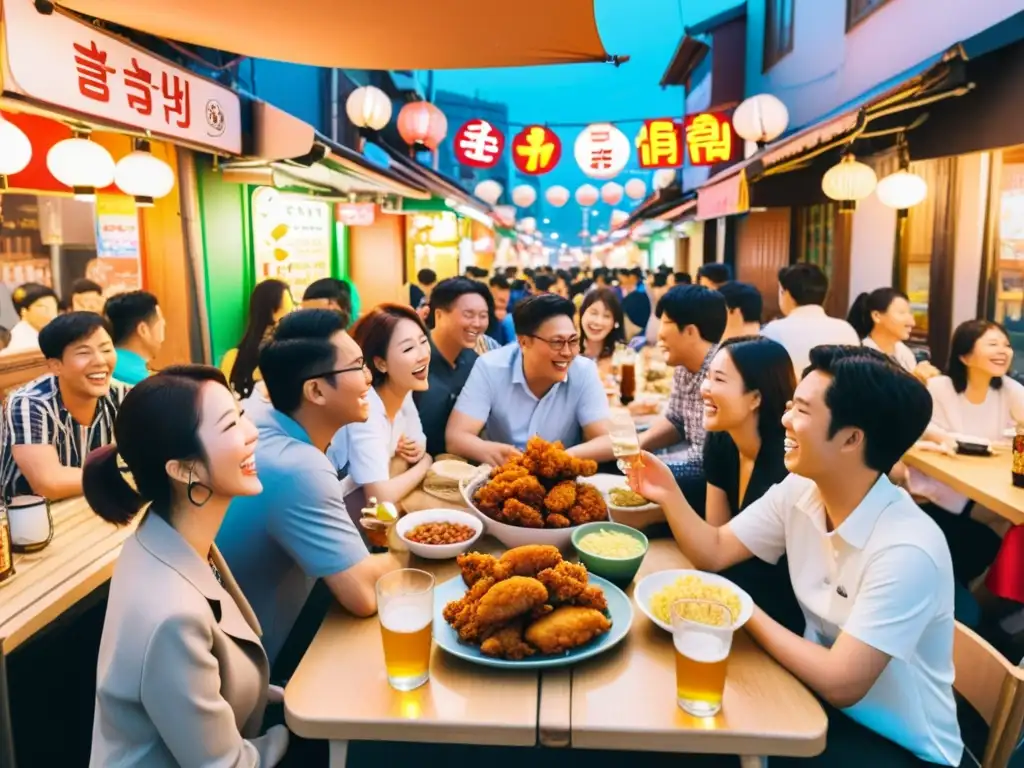
[[[426,443],[420,423],[420,413],[410,392],[395,414],[394,421],[387,418],[384,401],[377,390],[371,388],[370,416],[365,422],[346,424],[338,430],[327,450],[328,458],[339,471],[346,470],[351,484],[366,485],[383,482],[390,476],[391,458],[404,435],[415,442]]]

